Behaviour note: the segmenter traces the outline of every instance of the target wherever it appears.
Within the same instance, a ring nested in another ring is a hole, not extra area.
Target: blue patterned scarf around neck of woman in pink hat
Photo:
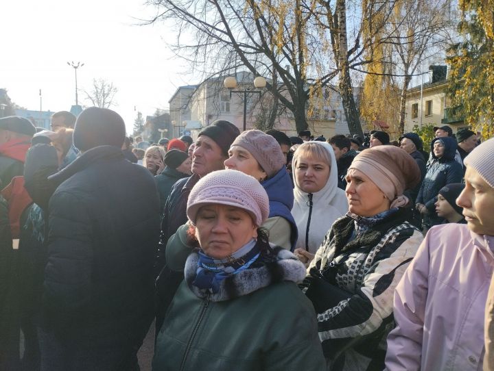
[[[214,294],[220,290],[220,282],[226,277],[246,270],[259,257],[259,246],[254,239],[224,259],[213,259],[199,251],[196,279],[192,284]]]

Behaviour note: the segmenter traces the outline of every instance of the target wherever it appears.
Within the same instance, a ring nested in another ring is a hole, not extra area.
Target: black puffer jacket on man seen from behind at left
[[[150,172],[115,146],[50,177],[43,327],[80,344],[141,344],[152,322],[159,231]]]

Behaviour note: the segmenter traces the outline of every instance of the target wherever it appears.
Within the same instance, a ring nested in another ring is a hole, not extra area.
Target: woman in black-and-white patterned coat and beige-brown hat
[[[302,284],[333,371],[384,368],[395,286],[423,240],[403,196],[420,177],[394,146],[363,151],[347,172],[349,213],[327,233]]]

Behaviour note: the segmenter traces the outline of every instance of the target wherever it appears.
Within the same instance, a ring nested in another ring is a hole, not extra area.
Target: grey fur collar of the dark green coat
[[[185,263],[185,281],[189,289],[199,298],[209,296],[211,301],[224,301],[248,295],[273,283],[281,281],[297,283],[305,278],[305,266],[296,259],[295,255],[280,247],[274,248],[273,251],[276,254],[274,261],[266,261],[261,266],[242,270],[224,279],[220,282],[220,291],[216,294],[192,285],[198,266],[198,254],[192,253]]]

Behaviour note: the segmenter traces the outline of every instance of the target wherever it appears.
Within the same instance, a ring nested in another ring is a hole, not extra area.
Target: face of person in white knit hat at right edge
[[[469,229],[482,235],[494,235],[494,188],[470,166],[464,179],[465,188],[456,203],[463,207]]]

